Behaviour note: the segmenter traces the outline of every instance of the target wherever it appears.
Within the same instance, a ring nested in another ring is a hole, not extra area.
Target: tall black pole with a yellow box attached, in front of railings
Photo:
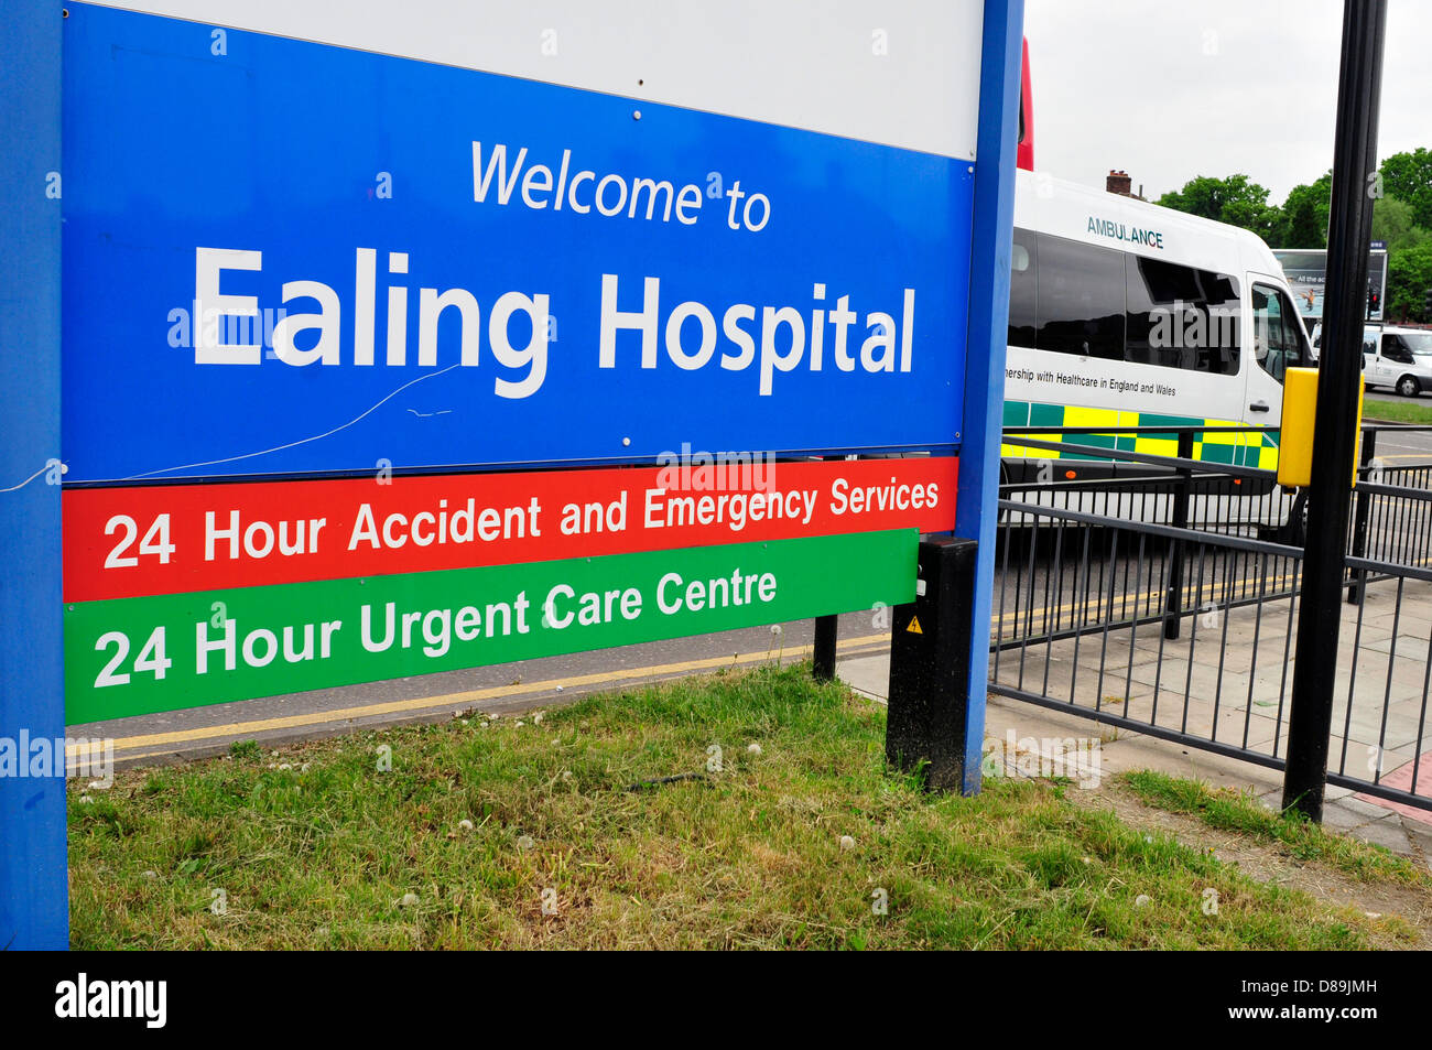
[[[1368,244],[1378,172],[1378,102],[1386,21],[1386,0],[1346,0],[1343,4],[1317,427],[1283,778],[1283,808],[1296,808],[1313,821],[1323,818],[1337,632],[1342,626],[1348,490],[1358,443],[1362,317],[1368,295]]]

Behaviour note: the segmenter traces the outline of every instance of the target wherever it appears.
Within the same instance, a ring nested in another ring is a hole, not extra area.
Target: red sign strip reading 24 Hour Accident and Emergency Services
[[[64,600],[945,531],[957,471],[941,457],[72,488]]]

